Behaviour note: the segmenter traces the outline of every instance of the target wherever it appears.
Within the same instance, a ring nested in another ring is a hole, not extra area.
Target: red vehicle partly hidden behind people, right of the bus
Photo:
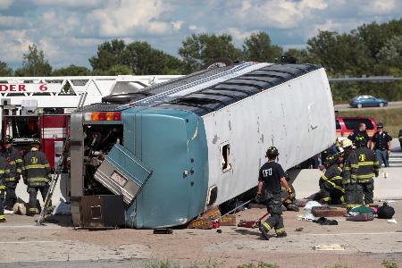
[[[350,132],[357,130],[359,128],[359,123],[363,122],[367,130],[368,136],[373,137],[374,133],[377,131],[377,122],[373,117],[343,117],[338,116],[337,125],[337,136],[338,137],[348,137]]]

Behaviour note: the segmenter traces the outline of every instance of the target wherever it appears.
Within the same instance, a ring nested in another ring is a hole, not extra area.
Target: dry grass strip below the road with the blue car
[[[384,130],[389,133],[392,138],[398,138],[399,130],[402,130],[402,108],[387,109],[353,109],[350,111],[339,111],[340,116],[370,116],[377,122],[384,124]]]

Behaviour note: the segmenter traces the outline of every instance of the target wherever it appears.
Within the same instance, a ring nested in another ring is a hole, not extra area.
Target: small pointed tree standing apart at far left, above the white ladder
[[[52,66],[45,60],[42,50],[36,45],[28,47],[28,53],[23,54],[22,67],[15,71],[17,76],[48,76]]]

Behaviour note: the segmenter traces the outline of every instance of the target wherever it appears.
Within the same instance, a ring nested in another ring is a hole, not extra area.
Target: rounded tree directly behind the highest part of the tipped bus
[[[281,57],[282,52],[281,46],[272,45],[270,36],[262,31],[251,34],[243,45],[247,61],[273,63]]]

